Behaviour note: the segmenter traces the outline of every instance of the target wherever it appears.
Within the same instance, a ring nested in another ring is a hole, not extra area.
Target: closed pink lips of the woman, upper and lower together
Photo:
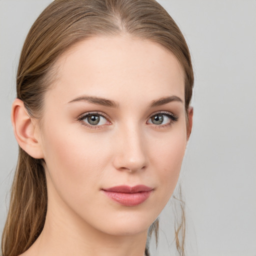
[[[152,190],[153,188],[145,185],[121,185],[102,188],[105,195],[125,206],[136,206],[141,204],[150,196]]]

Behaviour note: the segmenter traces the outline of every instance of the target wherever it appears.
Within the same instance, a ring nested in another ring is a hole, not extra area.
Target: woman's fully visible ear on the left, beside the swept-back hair
[[[43,158],[41,146],[37,141],[39,135],[38,121],[27,113],[22,100],[16,98],[11,108],[11,123],[19,146],[34,158]]]

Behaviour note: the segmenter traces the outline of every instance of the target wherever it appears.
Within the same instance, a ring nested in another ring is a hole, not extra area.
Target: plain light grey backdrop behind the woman
[[[0,232],[17,159],[10,122],[22,43],[50,0],[0,0]],[[180,181],[187,255],[256,255],[256,1],[159,0],[183,32],[195,74],[194,123]],[[173,251],[168,203],[152,255]],[[174,254],[171,254],[174,255]]]

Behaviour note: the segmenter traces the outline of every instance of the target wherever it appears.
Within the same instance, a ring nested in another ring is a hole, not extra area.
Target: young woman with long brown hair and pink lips
[[[149,255],[191,132],[192,86],[186,42],[156,1],[53,1],[17,71],[3,255]]]

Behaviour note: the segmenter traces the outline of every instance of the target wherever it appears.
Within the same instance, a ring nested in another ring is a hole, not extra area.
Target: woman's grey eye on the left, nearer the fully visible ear
[[[90,128],[110,123],[102,113],[86,113],[78,117],[78,121]],[[94,126],[94,127],[93,127]]]

